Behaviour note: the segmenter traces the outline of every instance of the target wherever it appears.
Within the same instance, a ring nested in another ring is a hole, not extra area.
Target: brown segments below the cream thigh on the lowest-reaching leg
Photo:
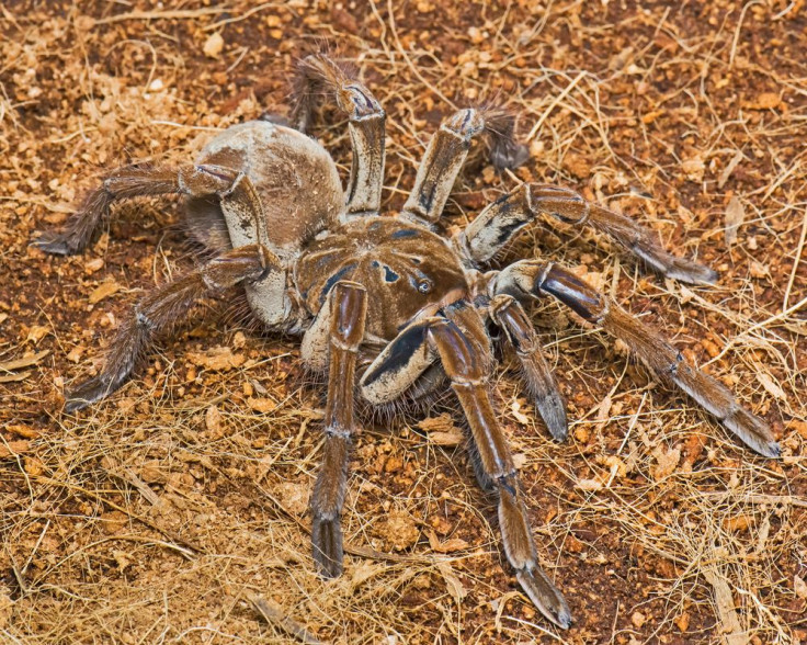
[[[468,419],[484,479],[492,483],[498,494],[499,528],[508,561],[535,607],[553,623],[568,629],[571,614],[566,600],[538,566],[513,457],[488,396],[484,357],[454,322],[445,319],[429,328],[429,342],[439,352]]]

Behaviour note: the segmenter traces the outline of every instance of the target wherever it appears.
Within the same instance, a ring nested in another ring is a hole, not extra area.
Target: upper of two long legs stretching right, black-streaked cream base
[[[572,190],[545,184],[521,184],[488,205],[455,237],[455,247],[471,263],[487,262],[541,213],[577,226],[590,224],[669,278],[705,284],[717,279],[712,269],[668,253],[653,231],[629,217],[587,202]]]

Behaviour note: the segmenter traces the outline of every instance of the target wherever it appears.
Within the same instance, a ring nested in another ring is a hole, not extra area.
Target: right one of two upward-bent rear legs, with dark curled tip
[[[528,152],[513,138],[513,117],[502,110],[466,109],[446,118],[429,142],[401,215],[436,222],[443,213],[473,140],[487,135],[497,169],[521,166]]]

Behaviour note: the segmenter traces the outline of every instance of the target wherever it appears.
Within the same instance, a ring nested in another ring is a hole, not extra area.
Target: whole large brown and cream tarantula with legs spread
[[[322,97],[349,120],[353,159],[344,192],[329,154],[305,134]],[[538,566],[516,468],[491,403],[489,327],[499,328],[514,348],[536,408],[557,440],[567,435],[565,401],[524,310],[531,299],[547,295],[622,339],[751,449],[778,455],[769,426],[728,388],[568,269],[543,260],[520,260],[500,271],[484,268],[538,215],[549,214],[607,234],[662,275],[712,283],[714,271],[668,253],[628,217],[552,185],[519,185],[465,230],[451,239],[440,235],[443,207],[475,138],[487,138],[499,168],[526,159],[513,138],[512,116],[467,109],[448,117],[429,143],[397,217],[379,213],[385,113],[354,72],[322,54],[304,59],[292,120],[294,128],[271,121],[231,126],[194,165],[120,168],[89,193],[62,231],[35,240],[50,253],[76,253],[114,202],[180,194],[190,236],[212,254],[140,299],[121,324],[98,376],[67,394],[67,411],[120,387],[152,339],[196,301],[241,288],[254,317],[270,330],[302,336],[305,364],[327,374],[326,441],[311,496],[319,572],[327,577],[342,572],[340,516],[356,432],[354,399],[382,409],[401,399],[417,403],[450,382],[470,429],[477,479],[498,498],[507,557],[535,606],[564,629],[571,615]]]

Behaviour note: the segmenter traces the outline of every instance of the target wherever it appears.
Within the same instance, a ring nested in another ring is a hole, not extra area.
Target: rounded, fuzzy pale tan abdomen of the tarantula
[[[259,236],[223,212],[215,199],[187,201],[189,229],[213,251],[260,241],[284,262],[317,233],[336,225],[343,210],[337,167],[314,139],[266,121],[250,121],[213,138],[197,165],[242,171],[254,185],[264,218]]]

